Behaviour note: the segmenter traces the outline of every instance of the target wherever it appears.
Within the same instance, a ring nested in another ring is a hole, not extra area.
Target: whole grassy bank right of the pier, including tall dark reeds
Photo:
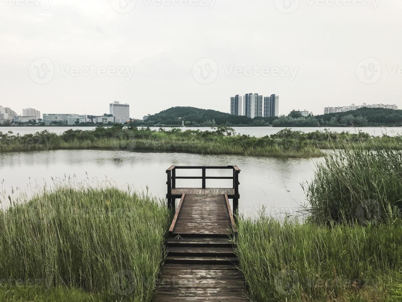
[[[306,186],[305,223],[240,219],[256,301],[402,300],[402,151],[347,150]]]

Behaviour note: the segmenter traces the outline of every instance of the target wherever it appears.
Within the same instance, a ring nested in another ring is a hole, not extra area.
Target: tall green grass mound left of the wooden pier
[[[0,212],[0,297],[150,301],[168,222],[158,201],[116,188],[60,188],[11,205]]]

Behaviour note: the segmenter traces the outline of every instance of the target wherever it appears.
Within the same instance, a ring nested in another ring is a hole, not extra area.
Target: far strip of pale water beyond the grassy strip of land
[[[57,134],[61,134],[68,129],[81,129],[81,130],[93,130],[95,127],[0,127],[1,132],[8,132],[12,131],[14,133],[29,134],[35,133],[37,131],[49,130],[50,132],[55,132]],[[158,127],[151,127],[153,130],[158,130]],[[164,128],[164,129],[171,129],[171,128]],[[183,127],[180,128],[182,130],[209,130],[211,131],[210,127]],[[248,134],[255,137],[264,137],[265,135],[271,135],[277,133],[279,130],[285,129],[285,127],[234,127],[237,133],[240,134]],[[293,130],[300,130],[303,132],[312,132],[316,130],[324,131],[325,128],[318,128],[318,127],[294,127]],[[402,127],[364,127],[364,128],[350,128],[350,127],[328,127],[330,131],[333,132],[351,132],[357,133],[359,130],[366,132],[370,135],[381,136],[383,134],[388,134],[389,136],[397,136],[402,135]]]

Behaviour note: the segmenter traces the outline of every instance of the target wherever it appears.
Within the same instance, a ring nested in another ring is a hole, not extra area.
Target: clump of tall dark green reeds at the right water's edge
[[[402,151],[341,150],[306,186],[309,219],[318,223],[394,220],[402,209]]]

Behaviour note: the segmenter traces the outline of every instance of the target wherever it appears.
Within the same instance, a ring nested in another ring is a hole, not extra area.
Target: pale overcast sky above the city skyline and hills
[[[135,5],[135,6],[134,6]],[[400,0],[0,0],[0,105],[141,118],[280,96],[402,109]]]

